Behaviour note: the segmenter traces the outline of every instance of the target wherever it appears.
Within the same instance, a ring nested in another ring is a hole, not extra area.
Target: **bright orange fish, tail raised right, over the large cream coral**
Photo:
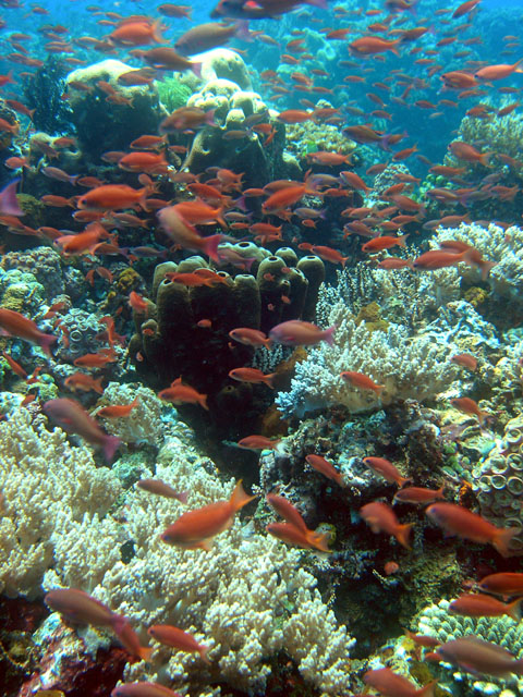
[[[234,514],[255,498],[245,493],[240,480],[229,501],[215,501],[183,513],[163,530],[160,539],[182,549],[209,550],[212,538],[231,527]]]

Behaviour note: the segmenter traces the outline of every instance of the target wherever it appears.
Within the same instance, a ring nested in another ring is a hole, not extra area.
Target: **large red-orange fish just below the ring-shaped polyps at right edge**
[[[510,557],[510,540],[519,535],[521,527],[497,528],[481,515],[454,503],[433,503],[425,514],[441,527],[447,535],[457,535],[473,542],[490,543],[501,557]]]

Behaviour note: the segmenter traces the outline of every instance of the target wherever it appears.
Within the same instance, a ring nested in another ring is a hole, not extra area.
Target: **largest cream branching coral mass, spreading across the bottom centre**
[[[150,663],[129,665],[126,678],[182,692],[197,688],[202,697],[218,695],[209,683],[219,682],[263,695],[273,659],[283,653],[325,695],[349,695],[353,639],[321,600],[315,577],[301,567],[304,552],[256,533],[241,515],[210,551],[166,545],[161,531],[186,508],[228,499],[234,481],[220,481],[180,428],[160,450],[155,476],[187,491],[187,506],[136,488],[114,518],[60,524],[60,553],[45,578],[47,588],[75,585],[126,615],[144,645],[150,640],[147,627],[173,624],[209,647],[207,665],[197,655],[156,645]],[[80,552],[78,535],[87,545],[82,559],[72,561]],[[110,551],[124,541],[134,547],[125,562]],[[85,580],[84,565],[89,566]]]

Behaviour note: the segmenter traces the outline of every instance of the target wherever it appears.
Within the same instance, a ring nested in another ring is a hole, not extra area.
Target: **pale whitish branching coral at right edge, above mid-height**
[[[503,230],[494,223],[483,228],[476,223],[461,223],[458,229],[439,228],[430,241],[433,248],[446,240],[459,240],[476,247],[488,261],[496,264],[488,274],[488,282],[495,293],[514,302],[523,297],[523,230],[513,225]],[[481,272],[473,267],[460,265],[465,278],[478,281]],[[458,271],[454,271],[458,274]]]

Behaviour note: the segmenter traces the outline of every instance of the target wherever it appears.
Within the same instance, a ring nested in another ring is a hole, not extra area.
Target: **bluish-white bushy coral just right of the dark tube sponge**
[[[342,302],[335,304],[327,321],[338,327],[335,344],[312,348],[296,366],[291,390],[276,400],[285,416],[337,404],[362,412],[394,400],[423,401],[448,389],[457,375],[450,363],[452,344],[411,338],[401,325],[390,325],[387,332],[369,332],[364,323],[356,327]],[[345,370],[363,372],[385,389],[377,395],[353,388],[340,378]]]

